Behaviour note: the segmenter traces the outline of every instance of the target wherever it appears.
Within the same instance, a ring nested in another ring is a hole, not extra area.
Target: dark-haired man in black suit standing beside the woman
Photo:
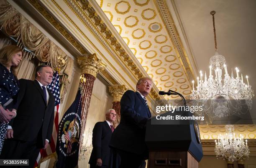
[[[33,168],[40,149],[47,148],[54,122],[54,96],[46,86],[52,78],[51,67],[41,65],[36,68],[36,80],[19,80],[14,107],[17,116],[7,130],[1,159],[29,159]]]

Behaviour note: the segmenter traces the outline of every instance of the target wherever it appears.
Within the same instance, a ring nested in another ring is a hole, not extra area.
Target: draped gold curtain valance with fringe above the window
[[[25,54],[28,59],[36,56],[41,62],[51,62],[54,71],[60,66],[60,75],[66,74],[70,82],[73,60],[6,0],[0,1],[0,24],[3,33],[17,39],[21,47],[33,51],[33,54]],[[62,64],[58,62],[59,56],[64,60]]]

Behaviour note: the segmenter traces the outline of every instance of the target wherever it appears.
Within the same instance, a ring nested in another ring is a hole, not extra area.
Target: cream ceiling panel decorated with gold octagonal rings
[[[187,97],[192,90],[187,72],[154,0],[96,1],[158,89]]]

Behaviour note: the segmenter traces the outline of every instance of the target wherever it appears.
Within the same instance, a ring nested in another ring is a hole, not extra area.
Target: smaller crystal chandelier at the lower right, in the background
[[[218,136],[218,142],[215,140],[216,157],[227,159],[231,162],[235,160],[244,160],[249,158],[250,150],[247,140],[243,140],[243,136],[236,136],[234,133],[234,125],[225,125],[225,135]]]

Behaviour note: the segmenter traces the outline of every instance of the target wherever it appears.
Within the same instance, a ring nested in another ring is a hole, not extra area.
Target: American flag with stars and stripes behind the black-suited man
[[[36,163],[34,165],[34,168],[38,166],[41,159],[49,156],[54,155],[55,153],[55,146],[57,141],[57,135],[58,135],[58,129],[59,129],[59,106],[60,106],[60,86],[59,86],[59,73],[56,71],[54,73],[53,79],[51,81],[51,84],[47,86],[47,89],[50,90],[50,92],[54,95],[55,99],[55,109],[54,109],[54,127],[52,130],[51,135],[51,143],[48,145],[48,147],[44,150],[41,149],[40,153],[36,159]]]

